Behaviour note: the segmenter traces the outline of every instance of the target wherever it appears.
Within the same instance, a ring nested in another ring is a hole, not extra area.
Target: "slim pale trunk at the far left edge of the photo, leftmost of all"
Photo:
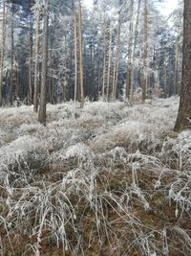
[[[3,68],[4,68],[4,56],[5,56],[5,19],[6,19],[6,0],[3,1],[3,19],[2,19],[2,30],[1,30],[1,58],[0,58],[0,105],[3,103]]]

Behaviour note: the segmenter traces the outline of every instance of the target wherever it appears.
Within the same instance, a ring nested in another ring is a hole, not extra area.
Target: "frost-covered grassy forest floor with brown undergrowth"
[[[179,99],[0,109],[0,254],[191,255]]]

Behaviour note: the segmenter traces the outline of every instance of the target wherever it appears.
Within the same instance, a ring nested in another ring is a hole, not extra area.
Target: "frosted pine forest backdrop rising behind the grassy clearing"
[[[47,102],[180,93],[182,3],[166,17],[159,2],[51,1]],[[1,105],[38,100],[44,4],[1,1]]]

